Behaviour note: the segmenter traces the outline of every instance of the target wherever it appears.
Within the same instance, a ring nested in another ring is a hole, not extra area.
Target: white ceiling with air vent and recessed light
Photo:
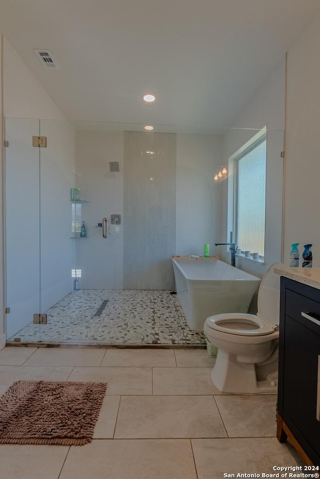
[[[220,128],[319,0],[1,0],[0,32],[72,120]],[[46,70],[32,48],[50,49]],[[145,105],[141,95],[156,95]],[[254,126],[254,125],[252,125]]]

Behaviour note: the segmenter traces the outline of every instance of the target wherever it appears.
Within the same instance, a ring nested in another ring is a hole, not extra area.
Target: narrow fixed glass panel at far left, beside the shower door
[[[36,342],[39,294],[39,121],[5,118],[6,338]]]

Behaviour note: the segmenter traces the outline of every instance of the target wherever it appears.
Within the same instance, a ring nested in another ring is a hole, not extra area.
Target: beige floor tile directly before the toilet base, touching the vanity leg
[[[215,396],[231,438],[272,437],[276,433],[276,395]]]

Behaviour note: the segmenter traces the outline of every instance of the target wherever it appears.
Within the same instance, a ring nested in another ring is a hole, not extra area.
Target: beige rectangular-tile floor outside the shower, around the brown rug
[[[220,479],[302,465],[275,438],[275,395],[221,394],[205,349],[6,347],[0,394],[18,379],[106,381],[85,446],[0,445],[1,479]]]

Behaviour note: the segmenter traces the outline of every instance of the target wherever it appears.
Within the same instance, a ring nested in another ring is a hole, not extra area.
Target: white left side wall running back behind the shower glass
[[[7,262],[9,284],[7,284],[6,296],[11,304],[5,306],[11,308],[7,317],[11,335],[32,321],[32,313],[39,312],[41,302],[40,312],[44,312],[71,291],[70,270],[73,266],[74,245],[69,239],[68,210],[69,190],[71,186],[74,186],[74,132],[63,113],[6,40],[3,42],[2,98],[4,117],[12,118],[7,121],[6,132],[10,135],[9,147],[5,148],[6,166],[11,172],[10,191],[7,190],[7,194],[14,200],[15,191],[20,193],[19,201],[17,201],[19,196],[17,195],[15,202],[8,202],[12,208],[7,215],[7,235],[11,238],[12,234],[12,238],[8,245],[10,259]],[[37,118],[41,118],[42,121],[39,122]],[[18,125],[22,137],[19,137],[14,122]],[[41,133],[47,136],[47,148],[32,148],[32,135],[37,136]],[[24,137],[25,134],[27,136]],[[19,158],[15,157],[17,152]],[[39,182],[38,174],[31,177],[29,175],[28,186],[26,186],[25,182],[31,169],[28,169],[25,164],[24,174],[22,168],[13,168],[13,162],[19,159],[26,162],[28,158],[32,162],[33,171],[34,168],[39,171],[40,167],[41,177]],[[9,162],[12,163],[11,169]],[[30,226],[30,221],[28,222],[28,217],[39,212],[40,185],[41,231],[38,226],[39,218],[35,221],[34,228]],[[33,196],[27,195],[28,198],[25,197],[27,188],[34,190]],[[21,216],[26,223],[23,226],[21,220],[21,235],[16,235],[16,224]],[[39,249],[40,233],[41,249]],[[30,254],[31,249],[27,247],[28,242],[34,246],[33,255]],[[17,260],[17,255],[14,255],[14,250],[21,252],[20,261]],[[39,256],[40,251],[41,256]],[[27,264],[28,262],[30,265]],[[39,276],[40,269],[41,276]],[[30,295],[27,294],[26,285],[28,287],[33,285]],[[30,301],[31,298],[33,298],[32,301]],[[28,304],[27,308],[22,307],[23,302]],[[22,308],[23,314],[19,312],[19,308]],[[13,314],[14,310],[16,315]],[[45,335],[45,329],[43,334]],[[44,336],[43,339],[45,339]]]

